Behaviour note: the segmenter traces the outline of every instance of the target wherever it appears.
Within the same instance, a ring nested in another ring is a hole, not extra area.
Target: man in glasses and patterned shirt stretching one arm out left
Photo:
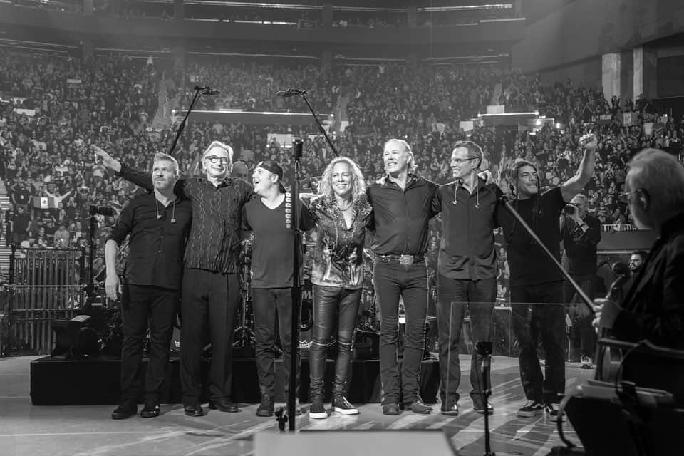
[[[95,148],[103,165],[135,185],[151,190],[149,178]],[[233,150],[212,142],[202,153],[206,175],[180,179],[175,192],[192,203],[192,227],[185,249],[181,299],[180,382],[185,415],[202,416],[201,355],[209,328],[212,365],[209,408],[239,412],[231,399],[234,318],[240,301],[239,271],[242,205],[252,186],[228,177]]]

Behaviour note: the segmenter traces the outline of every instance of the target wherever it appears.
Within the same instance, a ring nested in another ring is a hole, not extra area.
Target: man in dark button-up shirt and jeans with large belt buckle
[[[437,184],[413,174],[413,152],[404,140],[385,143],[387,175],[368,187],[373,208],[369,229],[375,232],[371,249],[373,286],[380,303],[380,380],[383,413],[398,415],[399,400],[414,413],[430,413],[420,399],[420,363],[425,346],[427,317],[428,222],[435,217]],[[403,298],[406,331],[401,385],[397,367],[399,300]]]

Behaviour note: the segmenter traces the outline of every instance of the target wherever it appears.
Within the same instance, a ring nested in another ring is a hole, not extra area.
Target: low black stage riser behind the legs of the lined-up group
[[[169,375],[162,385],[161,403],[180,403],[178,358],[169,362]],[[283,363],[276,360],[276,401],[285,401]],[[401,366],[401,364],[400,364]],[[147,359],[142,362],[144,378]],[[205,387],[209,375],[209,363],[202,363]],[[331,400],[334,363],[326,365],[326,401]],[[93,360],[59,360],[51,357],[31,362],[31,402],[33,405],[99,405],[119,403],[120,361],[98,358]],[[439,363],[423,361],[420,373],[420,394],[432,403],[437,398],[440,374]],[[257,363],[254,359],[235,359],[233,371],[233,400],[239,403],[258,403],[261,397],[257,380]],[[379,403],[380,365],[378,360],[353,361],[348,388],[348,399],[353,403]],[[208,388],[204,390],[204,402],[208,400]],[[309,361],[301,362],[301,385],[299,398],[309,402]],[[140,398],[142,402],[142,398]]]

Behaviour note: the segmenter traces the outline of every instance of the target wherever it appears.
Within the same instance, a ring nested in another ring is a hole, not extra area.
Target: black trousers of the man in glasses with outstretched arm
[[[183,404],[197,405],[202,396],[202,348],[212,344],[209,395],[231,398],[233,332],[240,301],[237,274],[185,268],[180,304],[180,383]]]

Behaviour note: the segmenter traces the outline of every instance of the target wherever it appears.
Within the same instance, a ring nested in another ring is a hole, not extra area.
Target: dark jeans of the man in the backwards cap
[[[296,391],[299,392],[299,331],[292,337],[292,289],[252,289],[254,303],[254,339],[257,342],[257,374],[261,395],[273,398],[276,395],[276,371],[274,348],[276,343],[276,316],[280,341],[283,346],[283,367],[285,369],[285,395],[289,390],[292,341],[296,345],[297,372]],[[298,325],[299,326],[299,325]]]

